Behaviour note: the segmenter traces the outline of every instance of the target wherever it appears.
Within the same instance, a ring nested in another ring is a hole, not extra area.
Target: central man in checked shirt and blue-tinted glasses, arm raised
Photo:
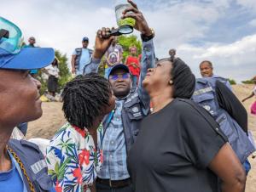
[[[131,73],[127,65],[113,65],[108,80],[112,85],[115,109],[102,121],[104,138],[102,141],[103,164],[96,179],[97,192],[132,192],[131,177],[127,170],[126,157],[139,132],[139,125],[149,114],[149,96],[142,82],[148,68],[154,67],[154,31],[144,19],[137,5],[131,1],[131,12],[137,13],[135,29],[141,32],[143,40],[143,59],[137,88],[132,88]],[[103,34],[108,34],[103,28]],[[98,31],[101,35],[102,31]],[[102,56],[105,51],[100,54]],[[97,57],[99,58],[99,57]],[[92,58],[94,59],[94,57]],[[100,62],[100,58],[97,61]]]

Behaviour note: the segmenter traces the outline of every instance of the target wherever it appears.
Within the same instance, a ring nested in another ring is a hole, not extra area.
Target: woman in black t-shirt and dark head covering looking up
[[[128,155],[135,192],[244,191],[245,172],[227,138],[207,110],[190,100],[195,76],[189,66],[160,59],[143,87],[153,113],[143,119]]]

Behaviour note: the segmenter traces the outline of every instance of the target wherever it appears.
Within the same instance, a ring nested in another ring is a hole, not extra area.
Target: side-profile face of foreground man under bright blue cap
[[[42,116],[41,83],[29,71],[0,70],[0,121],[6,125]]]

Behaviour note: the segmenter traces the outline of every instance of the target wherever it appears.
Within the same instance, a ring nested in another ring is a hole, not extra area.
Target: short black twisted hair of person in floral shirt
[[[67,82],[61,94],[64,115],[76,127],[90,128],[102,109],[109,105],[111,86],[108,80],[96,73],[76,76]]]

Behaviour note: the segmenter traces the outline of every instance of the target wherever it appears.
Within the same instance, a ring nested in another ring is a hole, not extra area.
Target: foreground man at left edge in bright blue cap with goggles
[[[21,37],[18,26],[0,17],[0,188],[54,191],[38,146],[10,138],[15,126],[42,116],[41,84],[29,71],[55,58],[53,48],[21,48]]]

